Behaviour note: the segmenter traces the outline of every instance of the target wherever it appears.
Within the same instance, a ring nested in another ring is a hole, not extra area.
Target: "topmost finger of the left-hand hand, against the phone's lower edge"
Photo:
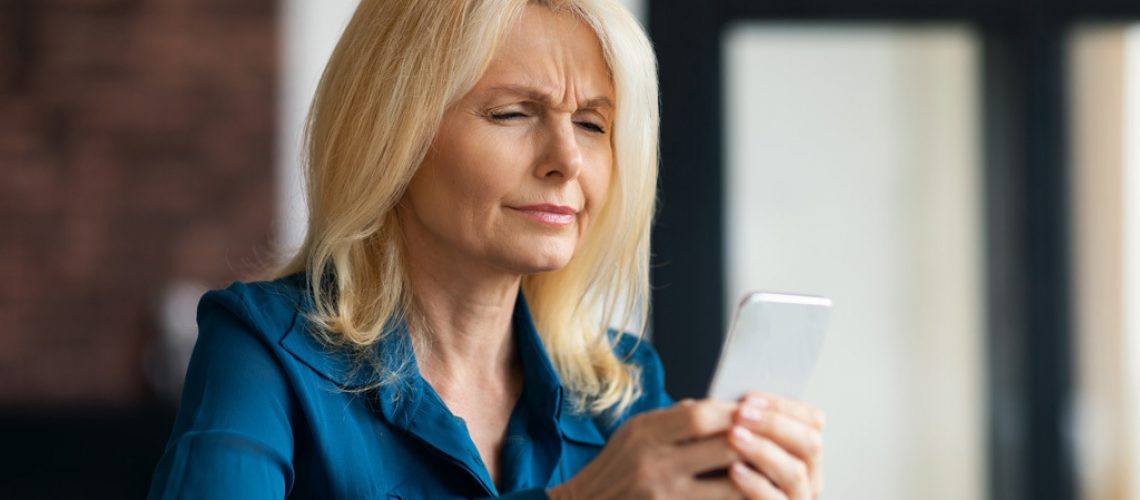
[[[658,441],[679,443],[728,431],[736,407],[736,403],[723,401],[685,401],[666,410],[644,413],[642,420]]]

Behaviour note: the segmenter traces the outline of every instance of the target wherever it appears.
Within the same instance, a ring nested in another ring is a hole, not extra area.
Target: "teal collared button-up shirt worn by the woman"
[[[641,368],[642,396],[616,418],[576,412],[520,293],[513,323],[524,382],[496,487],[464,421],[420,376],[405,327],[377,347],[385,366],[404,361],[399,382],[345,391],[375,376],[309,333],[303,279],[237,282],[203,296],[178,418],[148,498],[546,498],[630,416],[673,404],[657,353],[622,335],[616,350]]]

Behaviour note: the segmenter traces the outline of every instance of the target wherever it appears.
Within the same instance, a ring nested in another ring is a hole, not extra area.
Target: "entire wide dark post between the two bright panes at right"
[[[991,498],[1073,499],[1065,38],[985,24]]]

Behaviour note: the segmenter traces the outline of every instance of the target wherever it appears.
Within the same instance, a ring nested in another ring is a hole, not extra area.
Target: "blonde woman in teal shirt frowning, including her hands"
[[[203,297],[150,497],[816,497],[817,410],[673,404],[606,328],[648,310],[654,79],[612,1],[364,0],[304,245]]]

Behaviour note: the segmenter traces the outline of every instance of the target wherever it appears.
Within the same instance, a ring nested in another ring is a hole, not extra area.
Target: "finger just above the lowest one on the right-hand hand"
[[[744,460],[775,483],[788,498],[808,498],[812,492],[807,465],[779,444],[764,436],[735,426],[728,442]]]

